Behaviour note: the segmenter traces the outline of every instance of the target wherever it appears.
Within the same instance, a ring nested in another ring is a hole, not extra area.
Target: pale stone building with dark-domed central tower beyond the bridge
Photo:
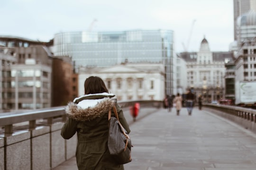
[[[204,102],[218,101],[224,97],[225,63],[233,59],[232,52],[212,52],[203,38],[198,52],[179,54],[186,61],[187,89],[203,96]]]

